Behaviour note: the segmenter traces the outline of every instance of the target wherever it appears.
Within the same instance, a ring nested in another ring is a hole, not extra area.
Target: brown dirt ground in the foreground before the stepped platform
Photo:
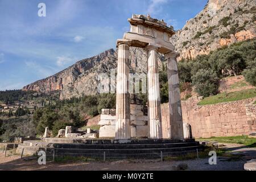
[[[5,156],[0,154],[0,171],[9,170],[46,170],[46,171],[173,171],[176,170],[175,166],[181,163],[188,165],[187,170],[199,171],[199,170],[210,170],[210,171],[237,171],[243,170],[243,165],[250,159],[256,158],[256,148],[246,148],[239,144],[225,144],[225,148],[228,148],[232,154],[242,155],[241,158],[228,158],[228,157],[217,157],[217,164],[210,165],[208,158],[205,159],[193,159],[193,160],[182,160],[173,161],[167,160],[161,162],[158,160],[117,160],[117,161],[106,161],[106,162],[72,162],[72,163],[56,163],[47,162],[46,165],[39,165],[36,158],[25,157],[20,159],[18,155]],[[232,160],[230,160],[232,159]]]

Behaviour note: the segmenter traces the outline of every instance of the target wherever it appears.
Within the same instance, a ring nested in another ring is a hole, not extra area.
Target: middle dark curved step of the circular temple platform
[[[86,149],[143,149],[143,148],[174,148],[198,146],[199,142],[184,143],[150,143],[150,144],[53,144],[54,148],[86,148]]]

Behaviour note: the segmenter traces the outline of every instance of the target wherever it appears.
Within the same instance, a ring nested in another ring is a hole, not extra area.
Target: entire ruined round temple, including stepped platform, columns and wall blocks
[[[131,26],[130,32],[126,32],[123,39],[117,40],[116,109],[102,109],[101,120],[98,123],[101,125],[99,136],[96,131],[90,129],[85,132],[83,129],[67,126],[59,130],[57,137],[51,137],[47,127],[41,140],[19,143],[16,152],[32,155],[43,150],[49,156],[89,156],[103,157],[105,160],[105,158],[159,158],[160,155],[185,154],[202,148],[199,142],[192,138],[189,125],[185,124],[183,131],[177,53],[170,43],[171,36],[175,34],[173,28],[167,27],[163,20],[152,19],[149,15],[133,15],[128,20]],[[129,92],[131,46],[147,51],[147,109],[135,99],[134,93]],[[167,59],[168,73],[170,117],[163,120],[163,126],[156,60],[158,52]],[[166,123],[170,127],[165,127]]]

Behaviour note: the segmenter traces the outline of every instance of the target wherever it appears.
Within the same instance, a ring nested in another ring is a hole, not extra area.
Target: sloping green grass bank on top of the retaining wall
[[[230,92],[228,93],[228,96],[226,96],[225,93],[220,93],[216,96],[205,97],[197,105],[209,105],[221,102],[240,101],[252,97],[256,97],[256,89],[247,89],[237,92]]]

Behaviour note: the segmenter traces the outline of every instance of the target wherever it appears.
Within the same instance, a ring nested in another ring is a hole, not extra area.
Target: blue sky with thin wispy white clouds
[[[38,4],[46,4],[46,17]],[[115,48],[132,14],[182,28],[207,0],[0,0],[0,90],[20,89]]]

